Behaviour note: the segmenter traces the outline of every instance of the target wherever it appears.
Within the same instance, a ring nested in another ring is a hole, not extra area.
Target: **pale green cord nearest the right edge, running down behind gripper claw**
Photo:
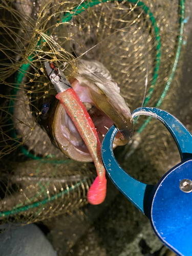
[[[167,91],[170,87],[170,83],[173,81],[175,71],[176,71],[176,68],[177,68],[177,64],[178,64],[178,60],[179,60],[179,56],[180,56],[180,52],[181,52],[181,45],[182,45],[182,40],[183,40],[184,16],[185,16],[185,1],[181,0],[180,4],[181,4],[180,34],[179,34],[179,43],[178,43],[178,48],[177,48],[177,52],[176,52],[176,57],[175,57],[174,65],[173,65],[173,68],[172,68],[172,72],[169,75],[168,81],[166,82],[166,85],[165,85],[165,88],[164,88],[164,90],[161,94],[161,97],[159,98],[159,100],[155,104],[155,108],[159,108],[159,106],[161,105],[165,95],[167,94]],[[148,117],[145,120],[145,122],[141,125],[141,127],[139,128],[139,130],[137,132],[141,133],[143,131],[143,129],[145,129],[147,124],[151,121],[151,119],[152,119],[152,117]]]

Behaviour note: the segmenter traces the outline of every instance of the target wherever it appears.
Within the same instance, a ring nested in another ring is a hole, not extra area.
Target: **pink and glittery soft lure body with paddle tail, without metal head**
[[[73,120],[83,141],[86,143],[97,170],[97,177],[88,191],[88,201],[100,204],[106,196],[105,169],[101,159],[101,144],[94,123],[76,92],[70,88],[56,95]]]

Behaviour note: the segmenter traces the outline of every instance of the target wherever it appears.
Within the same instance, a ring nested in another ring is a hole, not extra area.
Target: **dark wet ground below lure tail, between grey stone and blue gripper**
[[[80,216],[45,221],[58,255],[166,255],[150,221],[108,181],[103,204],[89,205]]]

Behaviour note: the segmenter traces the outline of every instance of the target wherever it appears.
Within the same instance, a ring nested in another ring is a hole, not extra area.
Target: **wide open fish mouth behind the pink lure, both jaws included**
[[[70,83],[86,106],[100,142],[109,128],[115,124],[121,132],[117,133],[113,147],[125,145],[133,134],[133,119],[110,72],[98,61],[81,60],[78,74]],[[63,154],[76,161],[93,161],[88,147],[60,102],[55,111],[52,127],[55,142]]]

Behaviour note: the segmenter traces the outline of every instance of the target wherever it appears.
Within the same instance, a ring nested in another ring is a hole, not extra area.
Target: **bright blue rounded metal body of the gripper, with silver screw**
[[[152,227],[159,239],[179,256],[192,255],[192,192],[180,189],[192,180],[192,160],[181,162],[159,181],[149,204]]]

